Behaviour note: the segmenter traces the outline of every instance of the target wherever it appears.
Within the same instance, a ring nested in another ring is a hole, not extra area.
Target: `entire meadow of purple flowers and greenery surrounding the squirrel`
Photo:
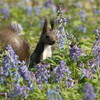
[[[30,55],[44,18],[54,19],[57,40],[33,68],[0,41],[0,100],[100,100],[100,1],[0,0],[0,27],[16,23]]]

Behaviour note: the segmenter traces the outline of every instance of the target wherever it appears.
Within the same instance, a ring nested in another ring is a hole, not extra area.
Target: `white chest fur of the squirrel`
[[[42,59],[46,59],[46,58],[51,57],[51,56],[52,56],[51,45],[45,45],[44,51],[42,54]]]

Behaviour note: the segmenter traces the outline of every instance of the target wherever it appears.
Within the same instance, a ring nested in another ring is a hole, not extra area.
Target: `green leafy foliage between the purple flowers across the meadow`
[[[18,7],[16,5],[17,2],[20,2],[20,0],[4,0],[6,4],[8,4],[8,7],[10,9],[10,16],[6,19],[4,19],[4,15],[0,13],[0,24],[7,24],[11,21],[17,21],[20,23],[23,27],[23,38],[25,38],[31,48],[32,52],[39,40],[40,34],[42,32],[42,26],[41,26],[41,20],[44,17],[48,17],[50,19],[52,16],[56,18],[57,13],[52,13],[52,10],[50,8],[42,8],[39,14],[36,14],[35,7],[33,6],[32,14],[27,15],[27,9],[23,9],[21,7]],[[13,1],[14,5],[10,6],[11,2]],[[34,0],[32,0],[34,1]],[[46,0],[44,0],[46,1]],[[95,33],[93,33],[93,30],[97,26],[100,26],[99,23],[99,15],[94,15],[92,11],[92,6],[96,7],[97,2],[99,0],[94,0],[93,3],[87,2],[87,0],[80,1],[84,6],[76,7],[75,2],[78,0],[59,0],[62,1],[61,4],[63,4],[63,8],[67,10],[64,13],[64,16],[66,18],[71,16],[71,19],[68,20],[67,25],[65,26],[65,30],[67,30],[70,34],[73,34],[76,38],[77,44],[79,47],[84,49],[84,56],[81,56],[78,62],[75,62],[74,60],[70,59],[70,46],[68,45],[71,40],[67,40],[65,43],[65,47],[63,49],[60,49],[58,46],[55,46],[55,50],[53,50],[53,56],[51,58],[48,58],[46,60],[41,61],[42,63],[50,64],[52,68],[55,68],[59,65],[60,61],[65,61],[67,63],[67,66],[71,70],[71,77],[73,80],[75,80],[74,88],[66,87],[63,79],[59,83],[41,83],[42,89],[39,89],[39,84],[36,82],[34,83],[34,90],[29,92],[28,98],[22,98],[21,100],[47,100],[47,92],[50,89],[54,89],[55,91],[59,91],[61,97],[63,100],[82,100],[84,93],[82,92],[82,89],[84,88],[85,83],[90,83],[94,87],[94,92],[96,93],[96,100],[100,99],[100,72],[96,69],[96,74],[93,75],[93,79],[88,79],[87,77],[82,76],[81,67],[79,66],[80,63],[84,63],[84,68],[89,68],[88,61],[94,58],[92,55],[92,46],[93,42],[95,40]],[[39,2],[39,1],[37,1]],[[58,0],[54,1],[56,5],[59,4]],[[43,2],[44,3],[44,2]],[[33,4],[35,5],[35,4]],[[0,6],[0,8],[2,8]],[[84,9],[87,12],[85,21],[81,21],[81,18],[79,16],[80,10]],[[83,25],[86,27],[87,31],[83,32],[82,30],[75,29],[79,25]],[[57,24],[55,25],[57,29]],[[0,49],[1,50],[1,49]],[[0,54],[0,66],[2,65],[2,55]],[[95,67],[97,68],[97,67]],[[15,69],[13,69],[14,71]],[[36,69],[35,69],[36,70]],[[5,76],[3,76],[5,77]],[[52,80],[53,76],[51,77]],[[21,85],[26,85],[26,82],[20,78]],[[9,91],[12,90],[13,84],[12,83],[12,77],[6,78],[6,81],[3,84],[0,84],[0,93],[7,93],[9,94]],[[4,100],[4,96],[0,95],[0,100]],[[10,100],[9,97],[7,100]],[[16,97],[16,100],[18,100],[18,97]]]

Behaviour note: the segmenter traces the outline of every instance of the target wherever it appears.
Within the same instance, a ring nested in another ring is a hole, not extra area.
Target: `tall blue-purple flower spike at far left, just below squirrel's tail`
[[[11,69],[16,68],[18,70],[20,61],[18,60],[18,56],[15,54],[14,50],[12,49],[11,45],[6,47],[5,55],[3,56],[2,61],[6,76],[12,76],[13,72]],[[16,77],[16,76],[15,76]]]

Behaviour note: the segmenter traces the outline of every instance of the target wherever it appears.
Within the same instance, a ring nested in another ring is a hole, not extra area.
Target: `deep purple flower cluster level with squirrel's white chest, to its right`
[[[77,45],[74,45],[70,49],[70,58],[78,61],[80,56],[83,55],[83,50],[79,48]]]

